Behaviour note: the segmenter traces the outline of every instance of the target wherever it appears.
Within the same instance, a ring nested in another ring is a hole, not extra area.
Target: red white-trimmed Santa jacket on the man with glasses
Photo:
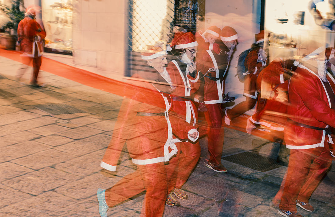
[[[194,77],[190,74],[186,75],[179,64],[181,63],[173,60],[167,64],[166,67],[166,71],[169,73],[174,86],[174,91],[171,93],[174,101],[172,110],[176,112],[181,119],[197,128],[197,108],[191,100],[187,99],[199,89],[199,73],[196,71]]]

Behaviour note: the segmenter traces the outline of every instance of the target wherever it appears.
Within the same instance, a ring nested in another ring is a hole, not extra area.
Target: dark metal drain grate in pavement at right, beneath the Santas
[[[277,164],[275,159],[258,155],[249,151],[222,157],[222,159],[261,172],[281,167],[281,165]]]

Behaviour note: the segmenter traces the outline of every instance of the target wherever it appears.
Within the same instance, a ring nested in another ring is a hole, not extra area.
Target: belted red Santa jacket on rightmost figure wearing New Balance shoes
[[[307,149],[324,146],[324,142],[332,143],[330,135],[325,130],[316,130],[298,126],[302,123],[313,127],[335,127],[334,81],[327,76],[330,93],[326,84],[304,65],[300,64],[290,79],[288,99],[290,106],[287,108],[288,118],[284,129],[286,147],[291,149]],[[330,97],[330,94],[333,97]]]

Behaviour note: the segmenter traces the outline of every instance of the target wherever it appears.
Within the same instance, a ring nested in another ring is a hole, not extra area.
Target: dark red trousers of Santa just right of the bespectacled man
[[[206,104],[205,119],[208,125],[208,152],[209,161],[221,164],[221,155],[224,142],[224,127],[222,127],[223,112],[221,104]]]

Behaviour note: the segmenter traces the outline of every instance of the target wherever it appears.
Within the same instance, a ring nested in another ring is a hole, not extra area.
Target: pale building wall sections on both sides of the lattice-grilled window
[[[77,0],[73,15],[73,62],[96,67],[99,74],[122,80],[127,61],[128,0]],[[243,83],[236,74],[236,57],[255,42],[259,32],[261,0],[206,0],[205,28],[231,26],[239,34],[226,80],[226,92],[242,97]]]

